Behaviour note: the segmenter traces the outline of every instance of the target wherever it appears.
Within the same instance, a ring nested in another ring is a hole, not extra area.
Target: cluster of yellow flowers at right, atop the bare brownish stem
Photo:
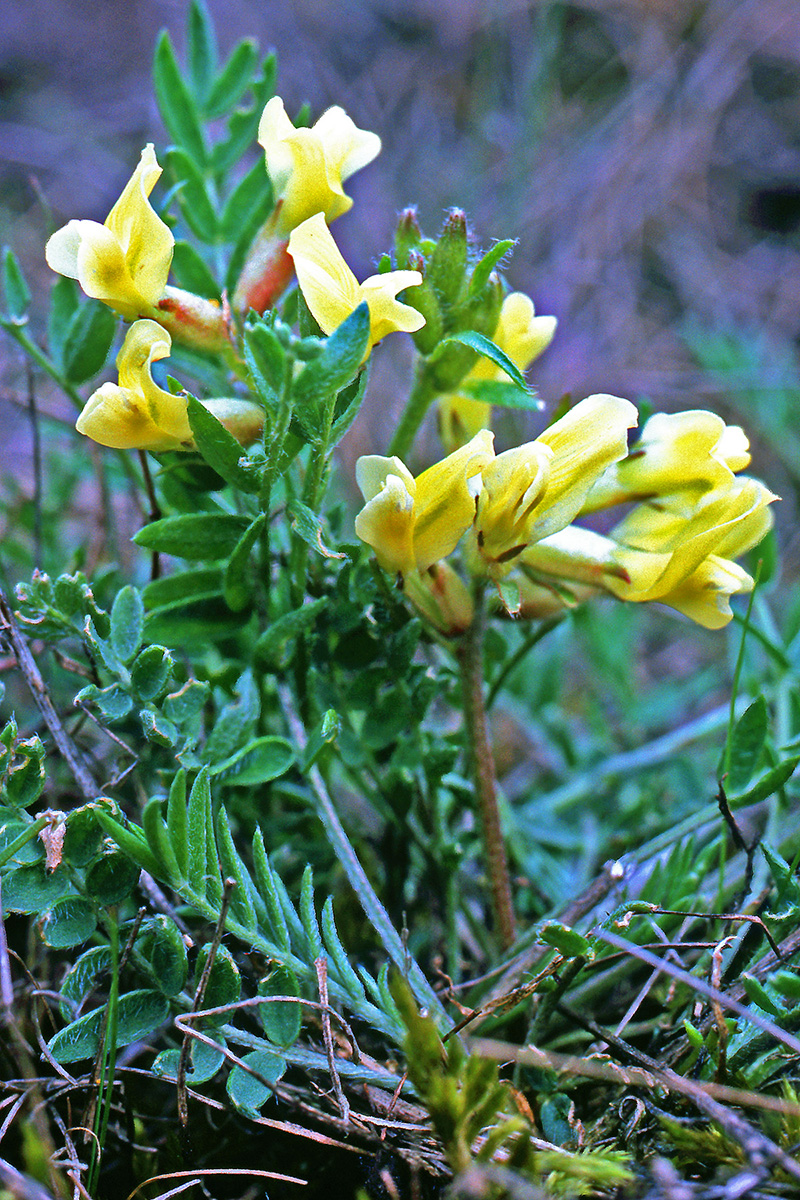
[[[361,458],[356,533],[443,632],[473,616],[444,562],[459,542],[467,572],[492,580],[510,612],[545,617],[609,594],[718,629],[730,596],[753,587],[733,559],[766,534],[776,497],[736,474],[747,439],[712,413],[656,415],[628,451],[637,421],[628,401],[599,395],[497,456],[481,431],[416,480],[398,458]],[[633,508],[607,535],[573,523],[620,503]]]

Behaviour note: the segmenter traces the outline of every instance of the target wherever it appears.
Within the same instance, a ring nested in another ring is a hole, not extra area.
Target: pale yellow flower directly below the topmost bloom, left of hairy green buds
[[[397,293],[422,282],[419,271],[387,271],[359,283],[325,224],[321,212],[303,221],[289,238],[300,290],[320,329],[332,334],[366,300],[369,306],[369,346],[396,330],[414,332],[425,317],[397,300]]]

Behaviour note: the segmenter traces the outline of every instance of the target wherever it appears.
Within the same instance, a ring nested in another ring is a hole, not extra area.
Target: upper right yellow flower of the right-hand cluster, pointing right
[[[750,443],[738,425],[703,409],[657,413],[627,457],[597,480],[584,511],[657,496],[688,516],[704,494],[728,487],[748,462]]]

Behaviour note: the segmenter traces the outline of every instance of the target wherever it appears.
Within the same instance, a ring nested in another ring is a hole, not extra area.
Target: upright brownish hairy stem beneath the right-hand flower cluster
[[[475,617],[461,641],[457,654],[462,673],[467,743],[473,761],[475,797],[492,888],[492,911],[503,948],[509,949],[516,937],[516,926],[509,860],[500,828],[494,757],[483,701],[483,601],[482,594],[479,594],[475,600]]]

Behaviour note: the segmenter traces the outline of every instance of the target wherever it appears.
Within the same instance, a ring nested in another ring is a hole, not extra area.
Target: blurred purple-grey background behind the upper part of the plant
[[[184,0],[0,4],[0,240],[35,293],[43,244],[102,221],[148,140],[156,36],[182,52]],[[353,178],[337,240],[356,274],[417,204],[428,233],[467,209],[476,244],[518,238],[509,278],[559,331],[531,379],[552,406],[610,391],[708,406],[751,433],[798,553],[800,19],[796,0],[209,0],[221,49],[278,52],[294,113],[342,103],[384,151]],[[254,148],[255,152],[257,148]],[[37,310],[35,308],[35,317]],[[375,356],[345,448],[385,445],[410,348]],[[30,455],[24,364],[0,340],[17,481]],[[42,385],[43,386],[43,385]],[[525,431],[501,425],[501,442]],[[505,438],[503,437],[505,434]],[[432,434],[433,437],[433,434]]]

